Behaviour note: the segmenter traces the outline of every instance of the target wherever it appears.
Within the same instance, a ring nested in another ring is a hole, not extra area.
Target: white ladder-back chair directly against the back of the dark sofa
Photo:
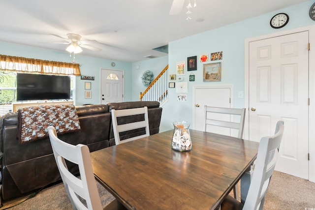
[[[148,117],[147,107],[134,108],[134,109],[122,109],[122,110],[112,109],[111,113],[112,113],[113,131],[114,131],[116,145],[133,141],[133,140],[143,138],[146,136],[150,136],[149,117]],[[126,120],[126,118],[124,120],[124,117],[127,117],[127,116],[132,117],[133,119],[131,120],[132,122],[126,122],[126,121],[130,121],[130,120]],[[132,136],[130,138],[124,138],[124,139],[122,139],[120,136],[121,132],[136,130],[140,128],[145,128],[144,134],[143,134],[143,130],[140,130],[140,131],[138,130],[138,131],[133,132],[133,134],[136,136]]]

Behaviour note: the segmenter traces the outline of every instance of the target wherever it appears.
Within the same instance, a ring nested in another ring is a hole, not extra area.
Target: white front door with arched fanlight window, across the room
[[[101,69],[101,104],[124,101],[124,71]]]

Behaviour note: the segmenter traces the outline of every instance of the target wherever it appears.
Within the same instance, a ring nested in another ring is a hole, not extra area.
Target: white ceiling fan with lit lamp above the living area
[[[54,36],[57,36],[61,39],[66,40],[66,42],[54,42],[54,44],[68,44],[69,46],[66,48],[66,51],[68,51],[70,53],[81,53],[82,52],[81,47],[87,48],[89,50],[94,50],[94,51],[102,51],[102,49],[90,46],[90,44],[99,43],[98,41],[96,41],[96,40],[80,41],[81,36],[79,34],[68,33],[67,34],[68,38],[64,38],[62,36],[59,36],[59,35],[56,35],[53,33],[51,33],[51,35],[54,35]]]

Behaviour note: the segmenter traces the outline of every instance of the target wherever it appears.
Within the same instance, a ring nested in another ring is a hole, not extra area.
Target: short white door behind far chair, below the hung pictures
[[[230,108],[231,87],[193,87],[194,93],[194,113],[193,129],[203,130],[204,126],[204,106]],[[220,117],[220,116],[216,116]],[[207,126],[207,132],[230,135],[230,130],[221,127]]]

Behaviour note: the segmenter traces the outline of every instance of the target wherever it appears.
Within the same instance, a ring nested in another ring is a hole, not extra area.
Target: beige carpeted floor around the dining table
[[[110,203],[114,197],[97,183],[102,206]],[[268,188],[264,210],[305,210],[315,209],[315,183],[275,171]],[[11,207],[25,200],[21,197],[4,201],[0,210]],[[43,189],[31,199],[9,210],[71,210],[69,198],[63,183]],[[196,208],[197,210],[198,208]]]

